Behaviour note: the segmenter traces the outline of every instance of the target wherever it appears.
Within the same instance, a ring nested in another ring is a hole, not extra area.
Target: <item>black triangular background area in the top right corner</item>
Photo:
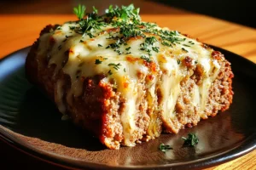
[[[256,28],[256,6],[250,0],[160,0],[154,2]]]

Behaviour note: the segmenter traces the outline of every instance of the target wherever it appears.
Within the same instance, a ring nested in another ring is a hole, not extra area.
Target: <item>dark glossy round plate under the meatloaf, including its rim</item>
[[[215,48],[215,47],[213,47]],[[66,167],[168,168],[211,167],[256,148],[256,65],[221,48],[235,74],[235,98],[229,111],[201,121],[177,135],[136,147],[108,150],[90,133],[61,121],[49,99],[26,81],[24,64],[29,48],[0,61],[0,137],[26,153]],[[195,148],[182,147],[182,136],[196,133]],[[170,144],[166,154],[159,144]]]

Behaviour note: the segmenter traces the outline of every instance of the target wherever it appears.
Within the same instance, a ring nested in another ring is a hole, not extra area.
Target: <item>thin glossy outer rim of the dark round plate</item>
[[[218,48],[213,45],[209,45],[211,48],[224,51],[224,53],[229,53],[232,55],[236,55],[239,59],[244,60],[249,65],[256,66],[253,61],[242,57],[239,54],[235,54],[233,52],[230,52],[229,50],[226,50],[224,48]],[[31,46],[27,46],[25,48],[20,48],[19,50],[8,54],[7,56],[3,56],[2,59],[0,59],[0,64],[9,57],[19,54],[20,51],[23,50],[29,50]],[[7,127],[4,127],[3,125],[0,125],[0,139],[3,140],[6,144],[9,144],[10,146],[14,147],[17,150],[22,151],[23,153],[26,153],[29,156],[36,157],[37,159],[41,161],[45,161],[48,163],[51,163],[56,166],[60,167],[66,167],[66,168],[81,168],[81,167],[90,167],[90,168],[114,168],[114,169],[163,169],[163,168],[175,168],[175,169],[183,169],[184,166],[189,169],[196,169],[196,168],[207,168],[207,167],[213,167],[216,165],[219,165],[221,163],[234,160],[238,157],[244,156],[247,153],[256,150],[256,133],[253,133],[251,136],[247,137],[243,141],[241,141],[239,144],[236,144],[235,147],[233,147],[230,150],[225,150],[224,152],[219,153],[218,155],[213,156],[207,156],[205,158],[201,158],[200,160],[194,160],[194,161],[188,161],[188,162],[179,162],[179,163],[173,163],[173,164],[166,164],[166,165],[151,165],[151,166],[111,166],[108,164],[103,163],[95,163],[90,161],[82,161],[82,160],[75,160],[72,159],[72,157],[68,156],[61,156],[60,154],[55,154],[52,152],[49,152],[47,150],[40,150],[37,147],[34,147],[32,145],[26,144],[26,142],[22,142],[22,140],[18,139],[15,135],[9,133],[8,131],[11,131],[12,133],[15,133],[14,131],[10,130]],[[244,147],[246,149],[244,149]],[[227,155],[227,156],[225,156]]]

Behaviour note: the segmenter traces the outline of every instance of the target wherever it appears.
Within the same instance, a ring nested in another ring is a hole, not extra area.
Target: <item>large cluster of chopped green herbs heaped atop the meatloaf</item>
[[[192,41],[184,44],[186,38],[180,37],[178,31],[160,29],[155,23],[141,21],[139,8],[135,8],[133,4],[121,6],[120,8],[110,5],[106,10],[106,14],[103,15],[98,15],[98,10],[93,7],[92,13],[86,14],[86,17],[85,9],[84,5],[73,8],[73,12],[77,15],[79,20],[75,22],[75,26],[69,27],[70,30],[81,34],[82,37],[89,36],[90,38],[96,35],[99,36],[102,32],[104,32],[104,34],[107,32],[108,37],[106,38],[111,40],[111,43],[106,48],[112,48],[117,54],[131,54],[131,47],[125,48],[131,37],[144,39],[139,49],[147,53],[141,56],[141,58],[147,62],[151,62],[150,56],[152,56],[152,51],[155,53],[160,52],[160,47],[156,47],[157,45],[155,43],[160,42],[167,47],[174,47],[176,44],[183,44],[185,47],[190,47],[190,44],[194,44]],[[106,26],[112,26],[116,29],[106,31],[104,29]],[[82,42],[82,40],[80,42]],[[102,45],[98,44],[98,47],[102,47]],[[125,48],[125,51],[120,50],[123,48]],[[188,52],[185,48],[182,48],[182,50]]]

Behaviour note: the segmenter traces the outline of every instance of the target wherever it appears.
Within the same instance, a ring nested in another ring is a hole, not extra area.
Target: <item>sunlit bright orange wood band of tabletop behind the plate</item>
[[[17,20],[19,19],[19,20]],[[0,58],[29,46],[44,26],[76,20],[73,14],[3,14],[0,16]],[[197,37],[256,62],[256,30],[200,14],[143,14],[143,20]],[[18,26],[18,27],[17,27]]]

